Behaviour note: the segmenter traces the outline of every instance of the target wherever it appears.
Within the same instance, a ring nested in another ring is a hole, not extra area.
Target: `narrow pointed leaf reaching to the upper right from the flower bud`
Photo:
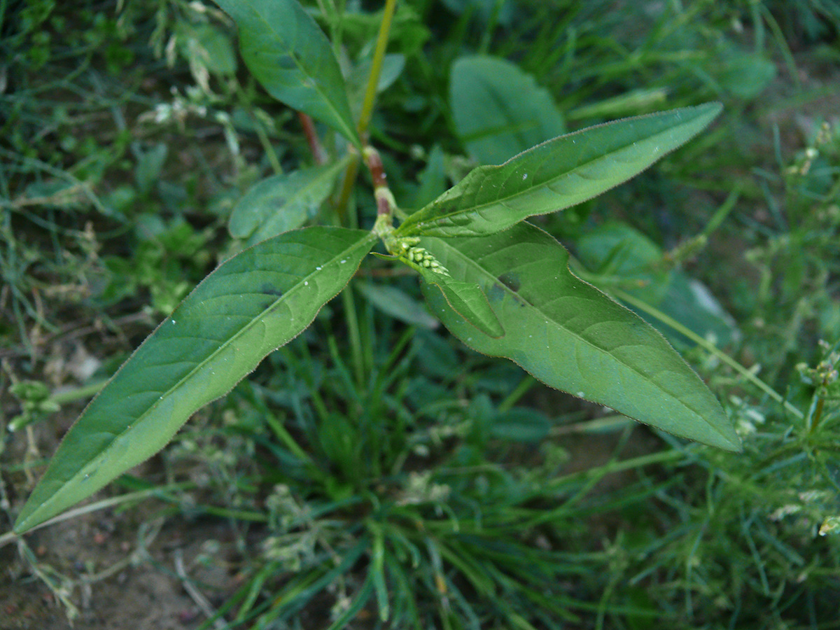
[[[534,214],[574,206],[627,181],[705,128],[719,103],[625,118],[538,144],[498,166],[480,166],[413,213],[407,236],[480,236]]]

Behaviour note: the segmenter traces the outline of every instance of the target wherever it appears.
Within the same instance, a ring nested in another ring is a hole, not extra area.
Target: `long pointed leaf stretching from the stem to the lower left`
[[[34,528],[160,450],[199,407],[307,328],[374,242],[364,230],[304,228],[220,265],[71,427],[14,531]]]

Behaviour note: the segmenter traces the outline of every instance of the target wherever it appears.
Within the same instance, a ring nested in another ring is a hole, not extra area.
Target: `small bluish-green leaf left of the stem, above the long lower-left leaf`
[[[266,177],[234,206],[228,229],[248,245],[302,227],[333,190],[349,160]]]

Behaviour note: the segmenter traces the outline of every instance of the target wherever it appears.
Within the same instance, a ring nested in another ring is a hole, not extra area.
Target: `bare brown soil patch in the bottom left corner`
[[[214,522],[182,521],[150,532],[142,519],[139,513],[80,517],[27,537],[40,570],[53,575],[77,607],[72,623],[66,607],[14,545],[0,549],[0,630],[192,630],[200,625],[206,617],[181,576],[211,607],[224,601],[236,581],[231,533]]]

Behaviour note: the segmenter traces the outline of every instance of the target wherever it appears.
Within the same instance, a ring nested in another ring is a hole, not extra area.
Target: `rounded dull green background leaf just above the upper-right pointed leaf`
[[[510,61],[461,57],[452,66],[449,86],[455,131],[480,164],[501,164],[566,133],[549,92]]]

